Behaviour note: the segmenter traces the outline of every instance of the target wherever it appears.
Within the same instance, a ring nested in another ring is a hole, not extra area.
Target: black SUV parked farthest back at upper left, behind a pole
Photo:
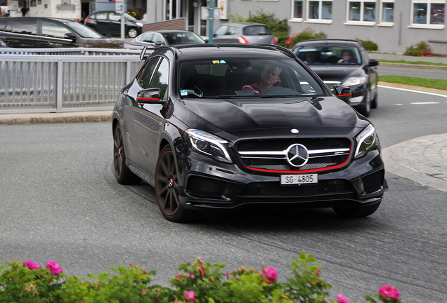
[[[124,32],[130,38],[135,38],[141,34],[144,21],[125,13],[124,14]],[[115,11],[96,11],[87,16],[84,25],[96,30],[101,34],[121,34],[121,14]]]

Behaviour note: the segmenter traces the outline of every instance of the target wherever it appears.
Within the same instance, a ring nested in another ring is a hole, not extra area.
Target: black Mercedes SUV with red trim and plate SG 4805
[[[286,48],[161,46],[112,116],[115,177],[155,187],[162,215],[199,210],[377,210],[387,182],[372,123]]]

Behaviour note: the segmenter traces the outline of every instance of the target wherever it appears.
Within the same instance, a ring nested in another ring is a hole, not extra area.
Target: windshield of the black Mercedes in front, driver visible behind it
[[[182,98],[324,95],[318,82],[293,58],[181,62],[179,91]]]

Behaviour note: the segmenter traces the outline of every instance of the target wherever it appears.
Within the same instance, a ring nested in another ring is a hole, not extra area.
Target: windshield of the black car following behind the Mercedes
[[[293,52],[307,65],[361,65],[355,46],[302,46]]]

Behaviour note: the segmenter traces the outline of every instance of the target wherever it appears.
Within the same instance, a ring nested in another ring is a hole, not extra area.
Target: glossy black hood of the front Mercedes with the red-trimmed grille
[[[304,129],[364,127],[367,121],[336,97],[286,97],[235,99],[185,99],[174,104],[177,119],[189,121],[189,128],[209,132],[224,130]]]

